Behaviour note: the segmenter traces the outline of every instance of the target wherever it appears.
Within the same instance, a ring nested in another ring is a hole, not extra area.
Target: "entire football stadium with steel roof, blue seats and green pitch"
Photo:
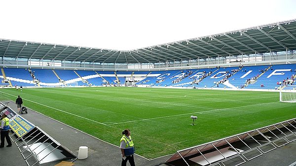
[[[0,55],[4,165],[116,166],[125,129],[137,166],[296,162],[296,20],[134,50],[1,39]]]

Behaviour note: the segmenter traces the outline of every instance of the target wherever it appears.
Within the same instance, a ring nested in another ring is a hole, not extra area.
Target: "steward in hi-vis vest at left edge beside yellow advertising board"
[[[11,140],[9,138],[9,119],[7,118],[7,115],[5,113],[2,114],[2,120],[1,120],[1,125],[0,125],[0,138],[1,138],[1,143],[0,143],[0,148],[4,147],[4,140],[6,138],[6,141],[8,145],[6,147],[11,147]]]

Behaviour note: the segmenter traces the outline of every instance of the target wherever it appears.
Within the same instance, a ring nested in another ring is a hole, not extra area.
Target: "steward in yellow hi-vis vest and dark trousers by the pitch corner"
[[[129,129],[126,129],[122,132],[123,136],[120,139],[120,150],[122,155],[121,166],[126,166],[127,161],[131,166],[135,166],[134,160],[134,142],[131,137],[131,132]]]

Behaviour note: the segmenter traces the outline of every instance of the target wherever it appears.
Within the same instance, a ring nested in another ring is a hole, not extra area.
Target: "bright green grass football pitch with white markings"
[[[128,128],[136,153],[148,159],[296,117],[295,103],[278,102],[275,92],[128,87],[0,92],[0,100],[21,95],[27,107],[111,144],[119,145]],[[196,126],[190,126],[191,115],[198,117]]]

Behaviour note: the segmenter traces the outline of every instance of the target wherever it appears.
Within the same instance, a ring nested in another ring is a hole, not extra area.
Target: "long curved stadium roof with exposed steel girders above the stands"
[[[287,50],[296,50],[296,20],[136,50],[110,50],[0,39],[1,57],[95,63],[159,63]]]

